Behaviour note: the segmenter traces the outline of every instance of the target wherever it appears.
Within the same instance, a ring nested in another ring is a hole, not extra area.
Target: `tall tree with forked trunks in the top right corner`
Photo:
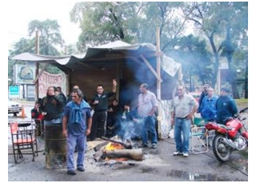
[[[214,85],[220,57],[225,57],[230,70],[234,71],[231,62],[235,45],[246,44],[248,27],[244,18],[247,21],[247,2],[190,2],[187,5],[183,10],[185,16],[194,22],[196,30],[204,34],[210,43],[214,55]]]

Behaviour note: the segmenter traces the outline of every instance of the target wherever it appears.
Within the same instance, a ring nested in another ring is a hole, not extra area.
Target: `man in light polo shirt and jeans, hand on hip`
[[[174,156],[183,154],[189,156],[190,122],[198,109],[198,102],[194,97],[185,93],[183,86],[178,86],[178,96],[174,97],[171,110],[171,123],[174,124],[174,140],[176,151]],[[183,136],[183,138],[182,138]]]

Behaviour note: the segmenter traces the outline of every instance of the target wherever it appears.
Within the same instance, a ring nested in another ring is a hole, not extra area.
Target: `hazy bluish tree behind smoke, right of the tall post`
[[[197,82],[211,84],[212,54],[207,50],[205,40],[200,40],[193,34],[184,36],[178,39],[177,46],[167,54],[182,63],[183,78],[186,83],[198,78]]]

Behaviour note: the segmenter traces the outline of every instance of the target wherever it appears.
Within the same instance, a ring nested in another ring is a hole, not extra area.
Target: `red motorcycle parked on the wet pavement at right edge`
[[[248,131],[244,125],[246,117],[241,114],[248,111],[248,107],[239,112],[238,117],[228,117],[226,125],[209,122],[206,129],[214,130],[213,151],[219,161],[228,161],[234,150],[246,149],[248,146]]]

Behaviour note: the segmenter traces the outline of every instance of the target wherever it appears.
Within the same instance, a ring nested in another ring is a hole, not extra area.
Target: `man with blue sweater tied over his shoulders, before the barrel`
[[[62,133],[67,137],[67,174],[75,175],[74,149],[77,146],[77,169],[84,172],[83,161],[86,153],[86,136],[90,134],[92,117],[90,105],[84,101],[81,90],[74,90],[72,101],[64,107]]]

